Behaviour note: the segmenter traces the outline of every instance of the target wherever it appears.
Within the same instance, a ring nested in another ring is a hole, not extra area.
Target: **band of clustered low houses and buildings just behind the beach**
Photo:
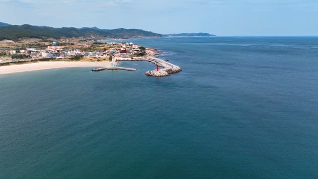
[[[5,50],[3,53],[14,55],[14,54],[25,54],[31,57],[43,57],[43,58],[68,58],[72,56],[87,56],[87,57],[100,57],[100,56],[128,56],[138,54],[143,51],[140,45],[134,43],[103,43],[106,50],[93,50],[93,51],[82,51],[80,48],[66,48],[65,46],[47,46],[46,49],[35,49],[35,48],[26,48],[23,50]]]

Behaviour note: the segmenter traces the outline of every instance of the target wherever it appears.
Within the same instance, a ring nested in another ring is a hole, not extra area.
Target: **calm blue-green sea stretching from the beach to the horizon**
[[[0,75],[0,179],[318,178],[318,37],[123,41],[183,71]]]

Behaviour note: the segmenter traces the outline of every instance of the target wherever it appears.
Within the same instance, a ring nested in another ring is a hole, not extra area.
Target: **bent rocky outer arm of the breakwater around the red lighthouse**
[[[165,77],[169,74],[177,73],[182,71],[182,69],[179,66],[173,65],[169,62],[166,62],[162,59],[156,58],[156,57],[148,57],[148,61],[155,63],[159,65],[160,67],[163,67],[163,69],[160,70],[152,70],[145,73],[147,76],[154,76],[154,77]]]

